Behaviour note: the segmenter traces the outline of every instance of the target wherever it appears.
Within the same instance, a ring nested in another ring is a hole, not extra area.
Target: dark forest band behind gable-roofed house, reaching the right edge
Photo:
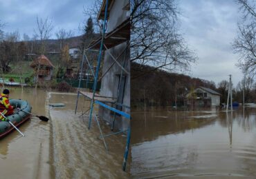
[[[131,63],[131,104],[136,107],[174,106],[175,99],[183,101],[185,95],[196,87],[209,87],[221,94],[221,103],[226,103],[228,96],[228,81],[216,85],[213,81],[192,78],[184,74],[169,73],[164,70],[154,70],[154,67]],[[246,103],[256,102],[256,84],[250,81],[250,87],[245,85]],[[233,87],[233,101],[242,103],[242,81]]]

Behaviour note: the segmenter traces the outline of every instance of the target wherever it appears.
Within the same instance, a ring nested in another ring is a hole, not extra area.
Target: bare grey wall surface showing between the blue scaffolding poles
[[[127,5],[129,1],[115,1],[109,13],[109,21],[108,21],[108,28],[107,32],[116,28],[116,26],[120,25],[125,19],[127,19],[127,11],[122,10],[122,8]],[[122,43],[113,47],[104,52],[104,63],[102,67],[102,74],[106,72],[111,64],[114,62],[108,52],[110,52],[113,56],[119,56],[120,53],[127,47],[126,43]],[[118,62],[122,64],[123,60],[125,59],[125,70],[128,72],[130,71],[130,55],[129,55],[129,48],[127,48],[127,52],[123,53],[118,59]],[[100,95],[102,96],[111,96],[117,98],[118,93],[118,74],[121,74],[121,68],[115,64],[111,67],[111,70],[107,72],[107,74],[102,78],[101,87],[100,87]],[[125,72],[123,72],[125,74]],[[123,98],[123,105],[130,106],[130,75],[127,75],[126,82],[125,82],[125,92]],[[116,107],[116,106],[113,106]],[[122,107],[123,112],[130,113],[130,109],[126,107]],[[104,107],[99,108],[99,116],[107,120],[109,123],[113,121],[113,112],[109,109]],[[129,126],[129,120],[124,117],[116,116],[115,127],[118,129],[127,129]]]

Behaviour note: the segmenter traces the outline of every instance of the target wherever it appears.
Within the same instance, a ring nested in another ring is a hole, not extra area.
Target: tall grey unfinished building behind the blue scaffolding
[[[98,20],[104,20],[106,4],[107,1],[103,0]],[[112,107],[130,114],[130,52],[127,48],[130,38],[129,0],[108,1],[107,14],[104,61],[100,74],[104,76],[101,78],[100,96],[116,98],[116,103],[112,104]],[[94,40],[89,49],[98,50],[100,41],[101,38]],[[118,59],[113,59],[117,57]],[[98,114],[109,123],[113,123],[113,118],[116,118],[114,125],[118,129],[127,129],[129,126],[127,118],[102,106]]]

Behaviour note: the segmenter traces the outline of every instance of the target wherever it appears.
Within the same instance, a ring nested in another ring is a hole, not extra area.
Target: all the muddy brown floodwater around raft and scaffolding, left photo
[[[100,131],[88,117],[74,114],[76,95],[56,94],[42,89],[11,88],[10,98],[21,98],[32,105],[32,112],[50,118],[48,123],[36,117],[0,140],[0,178],[129,178],[122,171],[125,136],[107,138],[106,151]],[[48,107],[64,103],[65,107]],[[80,100],[78,111],[88,102]],[[101,122],[104,134],[109,126]],[[129,165],[128,165],[129,170]]]

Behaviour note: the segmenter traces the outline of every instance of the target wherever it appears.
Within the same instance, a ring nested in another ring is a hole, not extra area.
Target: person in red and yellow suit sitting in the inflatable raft
[[[15,107],[10,105],[10,103],[9,103],[9,99],[8,99],[9,94],[10,94],[10,91],[8,89],[3,89],[3,93],[0,96],[0,112],[4,116],[12,115],[13,109],[15,109]],[[4,118],[1,114],[0,114],[0,120],[1,121],[6,120],[6,118]]]

